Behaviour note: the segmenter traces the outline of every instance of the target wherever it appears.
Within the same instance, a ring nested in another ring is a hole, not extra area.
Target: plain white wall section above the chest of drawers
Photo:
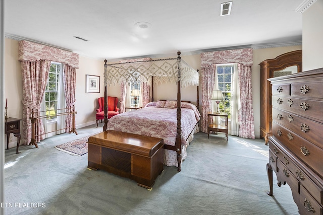
[[[323,67],[323,1],[303,13],[303,71]]]

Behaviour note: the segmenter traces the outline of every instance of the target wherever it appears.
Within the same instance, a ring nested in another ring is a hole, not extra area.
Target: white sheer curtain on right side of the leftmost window
[[[57,109],[64,109],[66,108],[66,100],[65,100],[65,93],[64,93],[64,82],[63,82],[63,66],[61,65],[61,70],[59,73],[59,86],[58,86],[59,94],[57,99]],[[57,113],[64,113],[66,110],[58,110]],[[65,133],[65,117],[66,115],[58,115],[56,119],[56,134]]]

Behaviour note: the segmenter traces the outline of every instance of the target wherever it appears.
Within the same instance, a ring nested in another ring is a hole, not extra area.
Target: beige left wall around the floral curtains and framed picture
[[[5,39],[5,98],[8,98],[8,116],[22,119],[23,87],[21,65],[18,61],[18,41]],[[76,70],[75,110],[77,111],[76,128],[95,123],[96,99],[104,95],[103,86],[104,62],[79,56],[79,68]],[[100,76],[100,93],[85,93],[86,75]],[[120,95],[120,93],[119,93]],[[53,134],[50,133],[49,136]],[[74,134],[71,134],[74,135]],[[17,138],[10,135],[10,147],[14,147]]]

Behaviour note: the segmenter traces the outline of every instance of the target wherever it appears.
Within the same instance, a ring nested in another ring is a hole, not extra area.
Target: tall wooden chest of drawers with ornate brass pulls
[[[323,68],[269,81],[273,136],[268,195],[273,195],[274,170],[278,186],[290,186],[300,214],[323,214]]]

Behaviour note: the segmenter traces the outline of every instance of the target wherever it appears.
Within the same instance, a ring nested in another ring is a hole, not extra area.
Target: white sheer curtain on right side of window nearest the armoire
[[[239,109],[241,102],[238,77],[238,63],[234,63],[231,93],[231,126],[229,129],[230,134],[233,136],[239,136]]]

